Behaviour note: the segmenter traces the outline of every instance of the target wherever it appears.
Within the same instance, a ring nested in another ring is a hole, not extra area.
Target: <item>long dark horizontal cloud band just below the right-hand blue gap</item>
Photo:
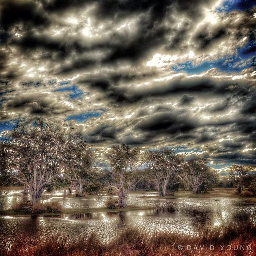
[[[94,83],[92,83],[93,85]],[[213,79],[208,77],[192,77],[188,78],[185,75],[181,75],[177,78],[173,78],[170,82],[152,82],[149,86],[142,88],[130,88],[130,87],[116,87],[110,86],[110,82],[105,80],[104,87],[106,95],[115,100],[117,103],[134,103],[150,97],[167,96],[171,94],[183,94],[190,93],[194,95],[204,94],[211,92],[212,94],[247,94],[246,87],[251,86],[252,83],[246,83],[245,81],[223,80]],[[112,83],[111,83],[112,84]],[[97,84],[94,84],[95,87]],[[183,95],[180,99],[180,104],[188,104],[194,100],[194,96]],[[215,106],[212,106],[211,110],[219,111],[228,107],[228,99],[226,102]]]

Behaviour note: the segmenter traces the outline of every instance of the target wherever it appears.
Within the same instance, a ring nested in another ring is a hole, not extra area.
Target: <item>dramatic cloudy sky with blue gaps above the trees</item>
[[[125,143],[256,166],[256,2],[2,0],[0,137],[41,116]]]

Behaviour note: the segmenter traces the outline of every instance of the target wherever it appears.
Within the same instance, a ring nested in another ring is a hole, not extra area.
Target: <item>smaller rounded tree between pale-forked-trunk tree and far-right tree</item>
[[[207,161],[203,158],[193,158],[185,162],[184,170],[180,177],[186,180],[192,187],[195,194],[199,194],[200,186],[207,180],[209,166],[206,166]]]

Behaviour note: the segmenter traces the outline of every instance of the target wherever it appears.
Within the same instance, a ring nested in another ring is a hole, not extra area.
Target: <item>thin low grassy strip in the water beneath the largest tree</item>
[[[106,207],[97,207],[97,208],[66,208],[62,212],[55,212],[55,213],[40,213],[34,214],[37,216],[56,216],[61,214],[80,214],[80,213],[91,213],[91,212],[126,212],[132,210],[151,210],[156,209],[154,206],[127,206],[126,208],[115,208],[115,209],[108,209]],[[14,210],[4,210],[0,211],[0,216],[30,216],[33,215],[30,212],[25,211],[14,211]]]

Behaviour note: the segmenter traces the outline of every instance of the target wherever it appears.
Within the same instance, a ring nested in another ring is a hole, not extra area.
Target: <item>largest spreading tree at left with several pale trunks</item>
[[[66,168],[77,143],[71,131],[37,118],[30,128],[18,125],[10,138],[8,168],[29,190],[31,204],[38,202],[44,188]]]

